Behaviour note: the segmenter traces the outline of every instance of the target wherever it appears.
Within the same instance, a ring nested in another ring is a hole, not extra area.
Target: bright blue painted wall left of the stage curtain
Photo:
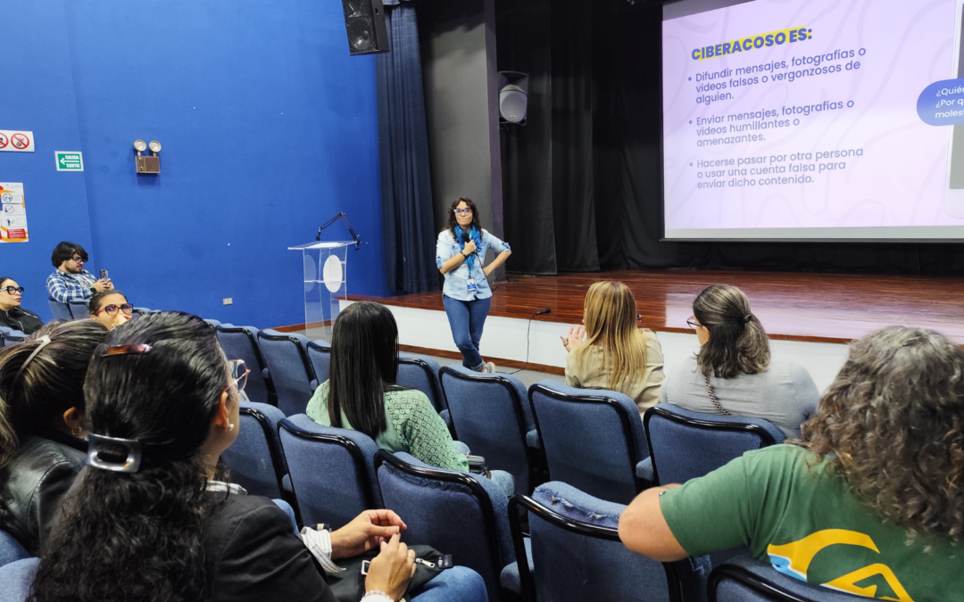
[[[6,22],[23,22],[23,5],[35,1],[5,0],[15,6]],[[55,132],[79,136],[83,175],[55,172],[51,146],[50,168],[40,161],[36,177],[60,187],[67,178],[79,182],[84,190],[76,196],[83,202],[86,191],[90,216],[40,222],[47,213],[59,215],[60,203],[32,203],[47,193],[34,193],[24,180],[32,242],[21,247],[32,249],[19,252],[46,254],[38,268],[43,275],[53,247],[47,241],[76,239],[135,304],[256,327],[299,324],[301,257],[286,248],[313,240],[317,226],[343,210],[364,241],[350,251],[350,292],[388,294],[374,60],[348,55],[340,3],[40,0],[37,6],[26,38],[37,39],[44,52],[21,57],[20,68],[30,74],[38,64],[53,70],[48,63],[56,63],[50,79],[70,93],[52,95],[72,102],[76,117],[54,123],[51,107],[25,103],[28,123],[17,126],[32,127],[39,147]],[[55,21],[59,29],[51,27]],[[0,66],[7,63],[0,59]],[[8,102],[0,96],[0,129],[7,127]],[[163,145],[159,175],[134,173],[131,144],[138,138]],[[43,159],[45,152],[35,154]],[[7,167],[18,157],[10,155],[0,153],[0,181],[19,181]],[[56,234],[40,238],[48,230]],[[348,233],[337,225],[325,236]],[[3,259],[12,247],[0,247]],[[233,305],[222,304],[227,297]],[[42,299],[31,296],[25,304],[38,309]]]

